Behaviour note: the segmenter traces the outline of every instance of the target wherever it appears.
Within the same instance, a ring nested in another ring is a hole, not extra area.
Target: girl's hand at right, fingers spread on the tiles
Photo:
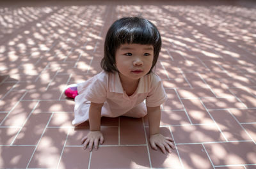
[[[149,142],[151,147],[154,150],[157,150],[157,146],[161,149],[161,151],[166,154],[166,150],[171,153],[172,149],[175,148],[175,146],[173,145],[173,139],[167,136],[163,136],[159,133],[157,133],[156,135],[151,135],[149,138]]]

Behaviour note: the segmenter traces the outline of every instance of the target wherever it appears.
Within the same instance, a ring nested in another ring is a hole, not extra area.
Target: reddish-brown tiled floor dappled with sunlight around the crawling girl
[[[253,1],[3,1],[0,5],[0,168],[256,168],[256,3]],[[148,121],[102,119],[105,142],[84,151],[68,84],[100,72],[116,18],[142,15],[163,36],[156,67],[168,101],[161,133]]]

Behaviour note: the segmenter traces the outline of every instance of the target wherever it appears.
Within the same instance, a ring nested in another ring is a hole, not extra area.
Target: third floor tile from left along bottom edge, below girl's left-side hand
[[[74,156],[76,154],[76,156]],[[65,147],[61,156],[59,169],[80,169],[87,168],[90,152],[84,151],[82,147]]]

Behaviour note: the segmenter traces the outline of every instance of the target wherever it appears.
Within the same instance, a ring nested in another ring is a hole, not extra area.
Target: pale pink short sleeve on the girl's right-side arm
[[[153,74],[150,82],[150,92],[146,98],[147,107],[157,107],[162,105],[167,99],[161,79]]]

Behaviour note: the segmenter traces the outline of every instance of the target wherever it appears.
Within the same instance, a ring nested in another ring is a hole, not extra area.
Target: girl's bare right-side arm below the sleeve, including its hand
[[[157,150],[157,146],[166,154],[166,150],[170,153],[171,148],[174,149],[173,140],[170,137],[165,137],[159,133],[161,109],[158,107],[147,107],[148,112],[148,126],[150,134],[150,145]]]

